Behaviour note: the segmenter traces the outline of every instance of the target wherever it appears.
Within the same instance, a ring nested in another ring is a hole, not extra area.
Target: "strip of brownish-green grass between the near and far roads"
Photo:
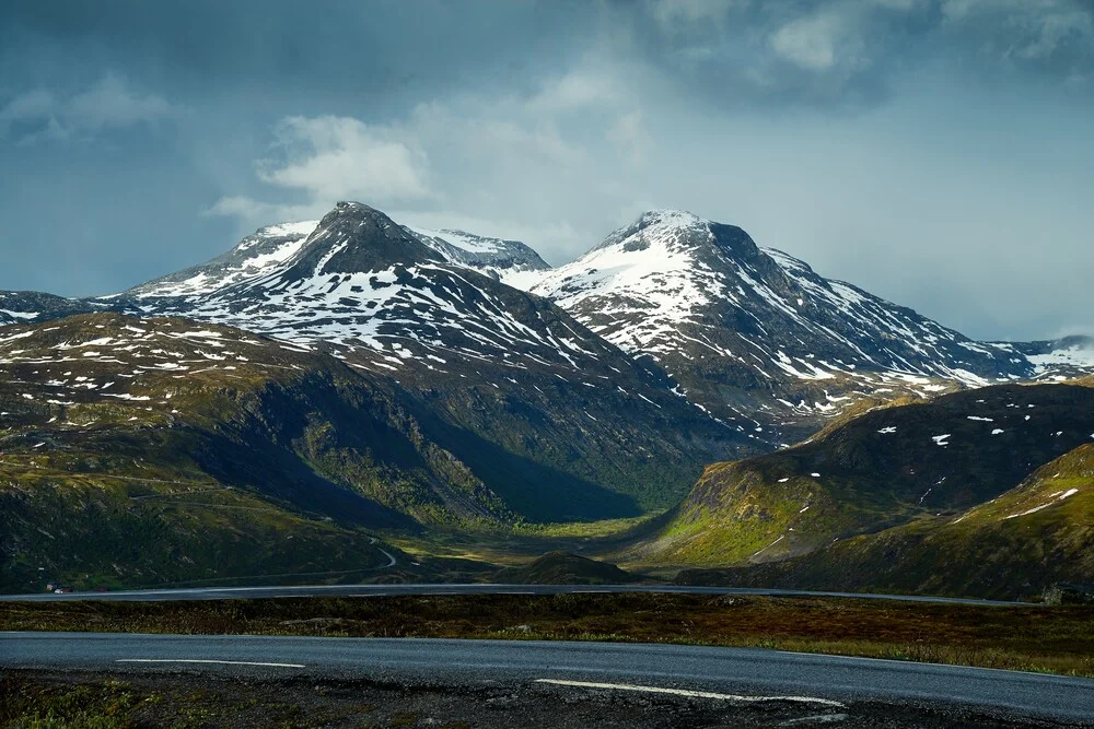
[[[0,603],[0,631],[615,640],[1094,678],[1094,609],[612,593]]]

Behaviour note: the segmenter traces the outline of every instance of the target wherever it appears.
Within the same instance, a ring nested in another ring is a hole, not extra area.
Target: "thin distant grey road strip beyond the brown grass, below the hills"
[[[381,595],[560,595],[578,592],[673,592],[690,595],[763,595],[769,597],[837,597],[901,602],[947,602],[968,605],[1020,605],[1025,602],[936,598],[919,595],[871,595],[865,592],[811,592],[747,587],[688,587],[678,585],[299,585],[286,587],[194,587],[116,592],[34,592],[0,595],[2,601],[53,602],[65,600],[115,600],[163,602],[170,600],[246,600],[254,598],[372,597]]]

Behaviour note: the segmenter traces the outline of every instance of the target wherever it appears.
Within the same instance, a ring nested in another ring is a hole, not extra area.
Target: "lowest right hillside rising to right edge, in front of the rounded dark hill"
[[[687,585],[1038,597],[1094,584],[1094,444],[957,516],[924,517],[811,554],[736,569],[685,571]]]

